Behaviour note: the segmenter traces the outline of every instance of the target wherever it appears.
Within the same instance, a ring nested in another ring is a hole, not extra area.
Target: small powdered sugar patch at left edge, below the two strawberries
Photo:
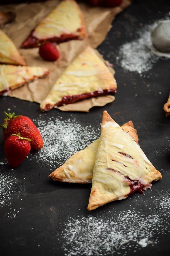
[[[16,193],[16,178],[11,171],[0,172],[0,207],[11,205],[12,196]]]

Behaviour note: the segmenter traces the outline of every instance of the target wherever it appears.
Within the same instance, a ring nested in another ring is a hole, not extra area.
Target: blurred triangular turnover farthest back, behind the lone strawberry
[[[23,48],[38,47],[39,43],[61,43],[86,37],[83,14],[74,0],[63,0],[46,16],[22,43]]]

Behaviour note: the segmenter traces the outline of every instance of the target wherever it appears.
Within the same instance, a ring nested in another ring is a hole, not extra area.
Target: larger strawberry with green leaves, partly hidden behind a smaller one
[[[4,140],[10,137],[11,134],[20,132],[22,137],[31,140],[32,150],[39,150],[43,147],[44,143],[40,131],[31,119],[23,115],[15,116],[15,113],[4,113],[6,115],[6,119],[4,119],[4,123],[2,124]]]

